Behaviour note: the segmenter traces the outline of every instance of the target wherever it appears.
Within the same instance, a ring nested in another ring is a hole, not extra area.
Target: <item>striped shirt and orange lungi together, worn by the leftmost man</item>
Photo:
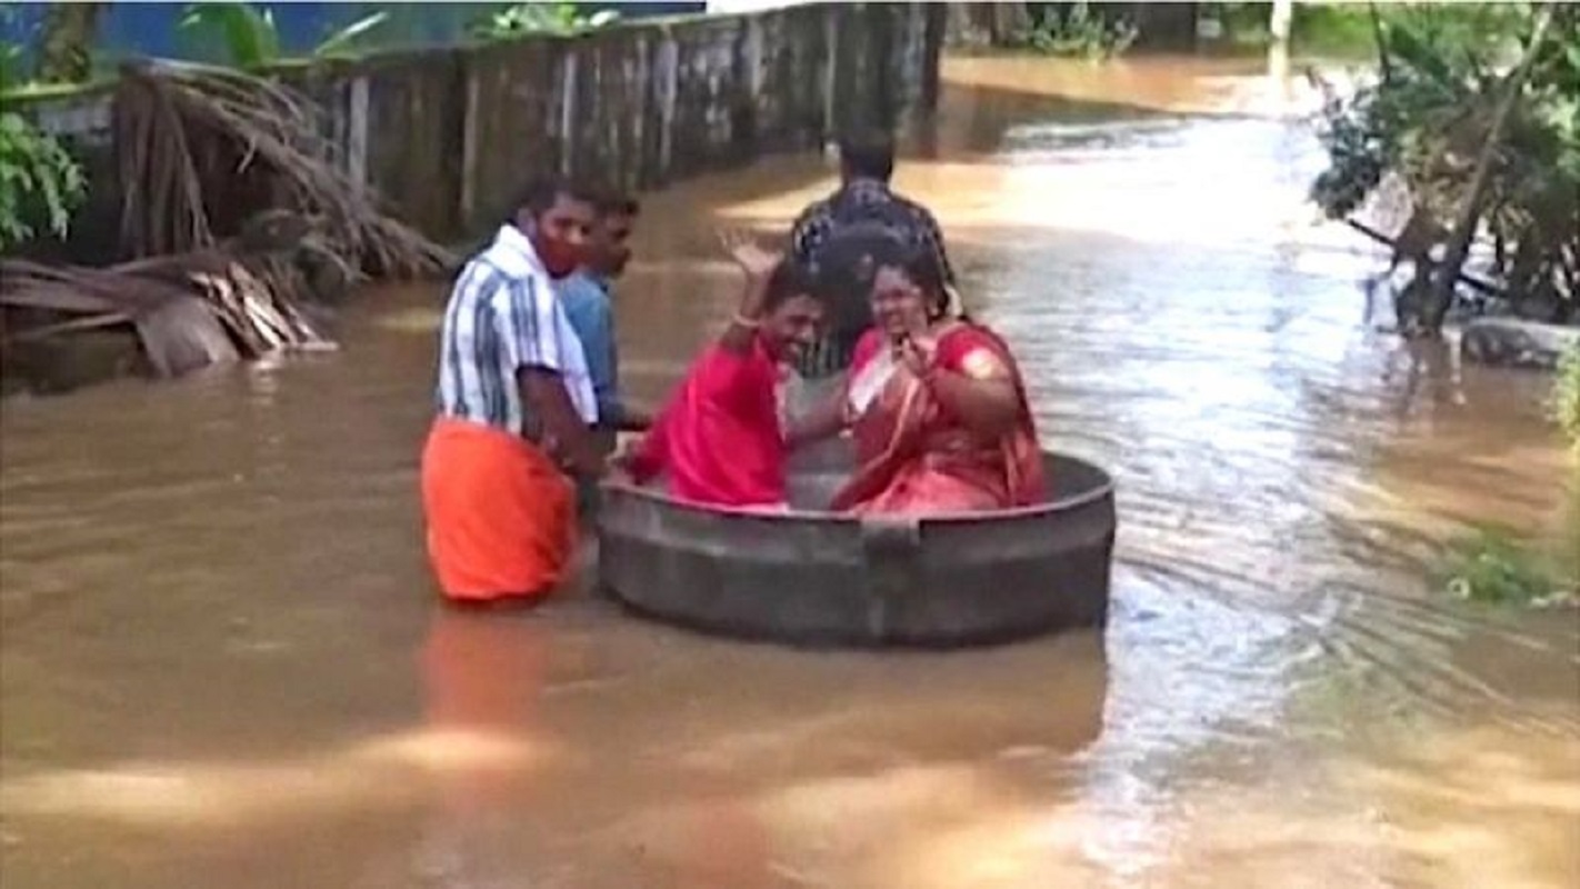
[[[422,452],[428,561],[452,600],[540,597],[575,554],[572,482],[537,444],[517,371],[556,373],[586,423],[597,401],[581,343],[514,226],[466,264],[439,333],[439,415]]]

